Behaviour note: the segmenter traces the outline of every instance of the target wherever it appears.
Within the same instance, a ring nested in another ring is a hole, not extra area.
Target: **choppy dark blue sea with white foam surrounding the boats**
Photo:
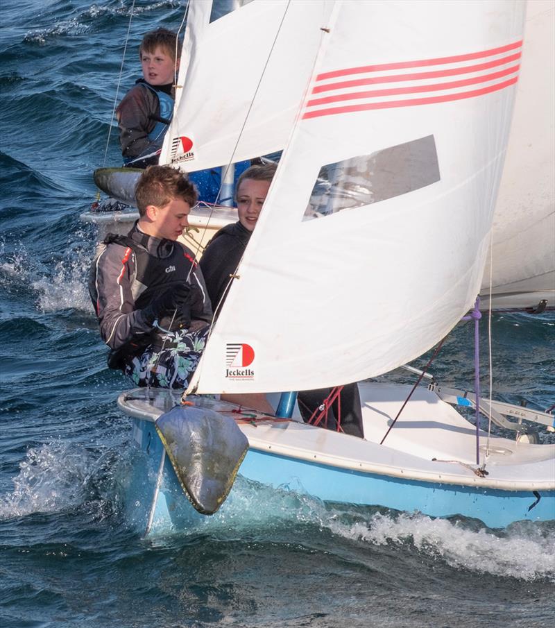
[[[105,367],[85,288],[95,233],[79,214],[104,164],[130,6],[0,6],[0,625],[551,626],[555,522],[494,531],[240,481],[228,514],[189,532],[144,540],[126,523],[126,382]],[[183,6],[137,1],[122,90],[142,33],[177,28]],[[119,164],[115,135],[105,164]],[[555,401],[554,330],[552,315],[494,317],[497,398]],[[468,325],[432,370],[472,387]]]

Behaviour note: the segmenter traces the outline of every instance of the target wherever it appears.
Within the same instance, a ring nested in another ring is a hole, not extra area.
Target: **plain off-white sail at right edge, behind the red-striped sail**
[[[493,307],[555,306],[555,2],[528,3],[515,113],[493,219]],[[492,255],[492,252],[490,252]],[[488,306],[490,264],[481,296]]]

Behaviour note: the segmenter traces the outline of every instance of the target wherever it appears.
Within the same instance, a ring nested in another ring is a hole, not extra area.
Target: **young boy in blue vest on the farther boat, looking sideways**
[[[139,59],[143,78],[123,96],[116,114],[124,165],[146,168],[158,163],[173,112],[173,83],[180,59],[176,33],[167,28],[146,33],[139,46]]]

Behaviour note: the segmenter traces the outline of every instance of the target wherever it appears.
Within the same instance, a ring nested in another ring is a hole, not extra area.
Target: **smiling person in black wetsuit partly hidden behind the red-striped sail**
[[[219,230],[200,259],[200,269],[205,277],[215,316],[228,294],[232,276],[255,229],[276,168],[276,164],[257,164],[241,174],[235,192],[239,220]],[[311,416],[317,414],[323,407],[331,393],[332,389],[299,391],[297,402],[302,418],[309,421]],[[232,399],[228,396],[228,400]],[[336,399],[327,411],[325,427],[337,430],[338,423],[346,434],[364,437],[357,384],[346,384],[339,394],[339,399]]]

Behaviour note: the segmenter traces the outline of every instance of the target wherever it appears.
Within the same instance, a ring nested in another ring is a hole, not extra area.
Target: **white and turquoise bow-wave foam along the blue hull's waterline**
[[[327,529],[361,545],[416,549],[448,566],[470,572],[555,582],[552,523],[522,522],[494,531],[475,521],[330,506],[298,491],[300,487],[274,490],[238,477],[228,500],[216,514],[195,518],[188,529],[178,534],[237,538],[260,531],[271,535],[272,531],[291,525],[306,525]],[[185,496],[183,499],[188,508]],[[164,543],[164,538],[172,534],[167,527],[159,529],[158,542]]]

